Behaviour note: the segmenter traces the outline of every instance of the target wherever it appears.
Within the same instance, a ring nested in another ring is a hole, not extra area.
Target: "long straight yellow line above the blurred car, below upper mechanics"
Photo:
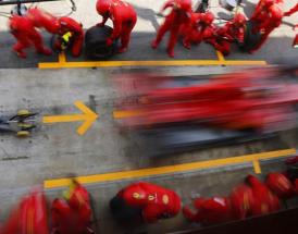
[[[63,60],[62,60],[63,61]],[[262,60],[157,60],[157,61],[90,61],[90,62],[46,62],[39,69],[83,69],[119,66],[195,66],[195,65],[266,65]]]

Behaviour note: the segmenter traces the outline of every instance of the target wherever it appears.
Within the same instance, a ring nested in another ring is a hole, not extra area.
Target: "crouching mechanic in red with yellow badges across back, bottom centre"
[[[119,221],[154,223],[175,217],[181,209],[181,198],[173,190],[138,182],[120,190],[110,201],[110,208]]]

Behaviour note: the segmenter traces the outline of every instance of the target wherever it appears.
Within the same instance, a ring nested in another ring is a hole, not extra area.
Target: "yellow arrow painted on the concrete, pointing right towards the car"
[[[70,115],[53,115],[53,116],[44,116],[44,123],[65,123],[65,122],[78,122],[84,121],[84,123],[77,128],[78,135],[84,135],[92,123],[98,119],[98,114],[91,111],[86,104],[82,101],[76,101],[74,103],[77,109],[79,109],[83,114],[70,114]]]

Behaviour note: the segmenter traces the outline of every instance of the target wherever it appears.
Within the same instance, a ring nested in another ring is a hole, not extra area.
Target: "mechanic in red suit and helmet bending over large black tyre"
[[[113,22],[113,33],[107,39],[107,46],[111,46],[120,38],[121,47],[117,52],[125,52],[129,45],[132,30],[137,23],[135,9],[121,0],[98,0],[96,8],[98,14],[102,16],[102,22],[98,26],[103,27],[109,19]]]

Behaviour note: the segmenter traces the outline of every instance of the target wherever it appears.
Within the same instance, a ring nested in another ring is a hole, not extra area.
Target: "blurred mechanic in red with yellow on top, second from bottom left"
[[[89,194],[73,180],[64,199],[57,198],[51,207],[52,234],[92,234]]]

